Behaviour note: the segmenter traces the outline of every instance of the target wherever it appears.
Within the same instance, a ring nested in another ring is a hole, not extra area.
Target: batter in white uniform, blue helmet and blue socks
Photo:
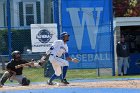
[[[55,72],[47,82],[49,85],[53,85],[54,83],[52,81],[58,77],[61,79],[62,83],[68,84],[65,79],[67,68],[69,66],[68,61],[79,62],[78,59],[71,58],[68,54],[67,41],[69,41],[69,36],[70,35],[67,32],[61,33],[61,40],[54,41],[50,50],[46,52],[47,54],[50,54],[49,60],[52,63]],[[63,54],[65,54],[66,60],[61,58]]]

